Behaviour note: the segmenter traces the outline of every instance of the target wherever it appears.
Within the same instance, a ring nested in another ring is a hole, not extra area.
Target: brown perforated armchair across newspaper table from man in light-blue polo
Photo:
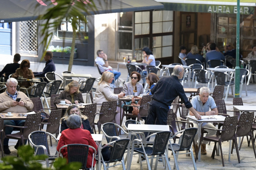
[[[201,129],[201,138],[200,138],[200,142],[199,142],[198,146],[201,146],[201,143],[203,140],[214,142],[214,148],[213,148],[212,156],[211,156],[212,159],[214,159],[215,152],[217,150],[217,142],[218,142],[218,144],[220,146],[222,166],[224,166],[224,159],[223,159],[223,153],[222,153],[222,142],[232,140],[235,144],[238,162],[240,163],[240,156],[239,156],[238,145],[237,145],[237,140],[236,140],[236,125],[237,125],[237,116],[233,116],[233,117],[225,118],[222,129],[202,128]],[[207,136],[204,137],[203,130],[205,130],[205,129],[216,130],[217,134],[208,136],[208,137]],[[219,135],[218,132],[221,132],[221,134]],[[231,144],[231,142],[230,142],[230,144]],[[199,153],[199,150],[197,150],[195,161],[197,161],[198,153]],[[230,158],[230,155],[229,155],[229,158]]]

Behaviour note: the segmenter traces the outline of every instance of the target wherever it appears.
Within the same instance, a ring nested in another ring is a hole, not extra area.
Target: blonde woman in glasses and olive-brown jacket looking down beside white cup
[[[59,104],[61,100],[65,100],[67,104],[84,103],[82,93],[79,91],[79,83],[72,81],[67,84],[62,92],[59,93],[54,100],[54,104]]]

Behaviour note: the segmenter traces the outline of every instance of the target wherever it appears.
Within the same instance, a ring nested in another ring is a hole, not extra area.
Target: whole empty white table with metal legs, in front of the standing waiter
[[[129,124],[127,127],[128,138],[131,139],[132,132],[160,132],[160,131],[170,131],[169,125],[142,125],[142,124]],[[127,146],[127,169],[130,169],[130,147],[131,142]],[[168,146],[167,146],[168,150]],[[131,155],[132,156],[132,155]],[[168,155],[167,155],[168,156]]]

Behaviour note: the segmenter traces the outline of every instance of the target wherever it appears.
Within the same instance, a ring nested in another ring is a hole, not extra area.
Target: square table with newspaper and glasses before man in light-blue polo
[[[190,116],[188,115],[187,116],[187,121],[189,120],[193,120],[195,121],[196,123],[198,123],[198,144],[199,144],[199,141],[200,141],[200,137],[201,137],[201,124],[202,123],[220,123],[220,122],[224,122],[225,118],[224,116],[222,115],[213,115],[215,118],[210,118],[208,119],[209,116],[202,116],[203,119],[201,120],[198,120],[197,118],[195,118],[195,116]],[[212,117],[212,116],[211,116]],[[198,161],[200,162],[201,161],[201,152],[200,152],[200,147],[201,146],[198,146],[198,149],[199,149],[199,152],[198,152]],[[230,154],[230,153],[229,153]],[[230,155],[229,155],[229,160],[230,160]]]

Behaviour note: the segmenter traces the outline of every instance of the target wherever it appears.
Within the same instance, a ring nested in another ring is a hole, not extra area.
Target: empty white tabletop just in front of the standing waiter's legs
[[[140,125],[140,124],[129,124],[127,127],[128,131],[140,131],[140,132],[154,132],[154,131],[170,131],[168,125]]]

